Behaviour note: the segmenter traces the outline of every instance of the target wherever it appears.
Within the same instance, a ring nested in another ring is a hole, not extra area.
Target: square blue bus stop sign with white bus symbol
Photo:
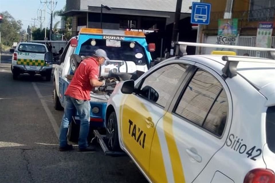
[[[191,23],[205,24],[210,23],[210,3],[192,3]]]

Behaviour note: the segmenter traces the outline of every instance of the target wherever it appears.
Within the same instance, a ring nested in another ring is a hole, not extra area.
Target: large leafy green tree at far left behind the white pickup
[[[12,46],[13,42],[20,41],[19,33],[23,24],[20,20],[15,20],[7,11],[0,14],[3,15],[3,21],[0,24],[1,42],[3,45]]]

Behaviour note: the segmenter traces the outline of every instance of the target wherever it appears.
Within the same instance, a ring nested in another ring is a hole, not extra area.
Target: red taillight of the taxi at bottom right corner
[[[243,183],[275,183],[275,174],[269,169],[256,168],[246,174]]]

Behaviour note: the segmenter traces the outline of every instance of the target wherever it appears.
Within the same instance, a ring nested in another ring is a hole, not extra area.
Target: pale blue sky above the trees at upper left
[[[45,2],[46,0],[41,0],[42,2]],[[63,9],[63,7],[66,5],[66,0],[52,0],[54,2],[53,8],[54,11]],[[50,27],[50,0],[47,0],[47,27]],[[56,3],[57,2],[57,3]],[[0,0],[0,12],[8,11],[13,18],[16,20],[21,20],[23,23],[22,29],[27,29],[28,25],[34,25],[36,27],[40,27],[40,22],[38,19],[38,9],[42,9],[42,29],[45,27],[45,4],[40,3],[40,0]],[[39,13],[40,14],[40,13]],[[3,18],[5,18],[5,15],[3,15]],[[36,20],[32,20],[36,19]],[[60,20],[60,16],[57,16],[53,18],[54,24]],[[60,28],[60,24],[58,25],[58,28]]]

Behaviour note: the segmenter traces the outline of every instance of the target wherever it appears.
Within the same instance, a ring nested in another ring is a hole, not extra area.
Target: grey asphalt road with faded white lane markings
[[[63,115],[52,82],[39,75],[12,79],[11,54],[0,64],[0,182],[147,182],[128,156],[58,151]]]

